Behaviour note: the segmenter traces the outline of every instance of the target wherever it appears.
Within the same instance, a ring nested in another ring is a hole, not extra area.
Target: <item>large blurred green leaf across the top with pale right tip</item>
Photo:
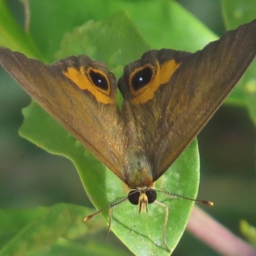
[[[31,34],[35,35],[36,45],[45,52],[48,60],[53,60],[52,56],[58,51],[60,41],[67,31],[89,20],[107,19],[113,13],[124,10],[154,49],[165,47],[196,51],[218,38],[175,1],[77,0],[75,4],[69,0],[31,0],[29,3]]]

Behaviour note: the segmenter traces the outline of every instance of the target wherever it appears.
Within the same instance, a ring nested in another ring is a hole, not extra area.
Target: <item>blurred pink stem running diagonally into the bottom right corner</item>
[[[250,244],[232,234],[227,228],[195,205],[189,223],[188,231],[195,237],[211,246],[216,252],[225,256],[256,256],[256,251]]]

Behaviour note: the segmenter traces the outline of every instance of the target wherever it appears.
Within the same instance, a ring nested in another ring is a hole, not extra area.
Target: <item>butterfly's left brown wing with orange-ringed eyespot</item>
[[[44,65],[3,48],[0,63],[42,108],[124,179],[124,124],[115,77],[104,63],[81,55]]]

